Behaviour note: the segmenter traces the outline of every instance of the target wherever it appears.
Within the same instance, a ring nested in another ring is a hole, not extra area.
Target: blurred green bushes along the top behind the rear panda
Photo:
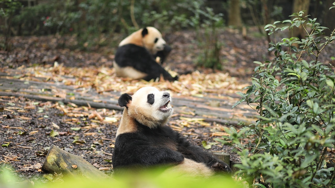
[[[204,0],[193,3],[187,0],[137,0],[134,4],[125,0],[84,0],[80,3],[59,0],[23,7],[14,20],[15,25],[21,26],[19,34],[75,33],[82,40],[90,40],[115,32],[127,36],[145,26],[154,26],[165,32],[190,27],[189,18],[195,14],[195,4],[199,5],[197,9],[206,9]],[[41,23],[45,27],[41,27]]]

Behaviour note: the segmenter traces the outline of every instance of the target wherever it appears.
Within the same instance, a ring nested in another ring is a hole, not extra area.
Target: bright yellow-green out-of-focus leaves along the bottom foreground
[[[45,178],[31,177],[27,180],[19,180],[17,175],[10,169],[0,169],[1,188],[243,188],[245,184],[233,180],[228,176],[214,176],[212,178],[191,177],[185,174],[161,174],[159,169],[148,170],[142,173],[130,173],[116,178],[92,178],[67,177],[62,174],[45,174]]]

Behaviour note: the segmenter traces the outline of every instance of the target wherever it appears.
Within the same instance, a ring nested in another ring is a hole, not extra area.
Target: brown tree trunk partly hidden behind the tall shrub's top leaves
[[[295,12],[299,12],[302,10],[305,10],[302,17],[308,15],[308,9],[310,7],[310,0],[294,0],[293,2],[293,8],[292,8],[292,14]],[[296,16],[293,16],[292,19],[296,18]],[[304,24],[306,26],[306,24]],[[299,39],[305,38],[306,31],[304,30],[303,26],[300,25],[299,27],[292,27],[291,32],[289,34],[289,37],[297,37]]]

